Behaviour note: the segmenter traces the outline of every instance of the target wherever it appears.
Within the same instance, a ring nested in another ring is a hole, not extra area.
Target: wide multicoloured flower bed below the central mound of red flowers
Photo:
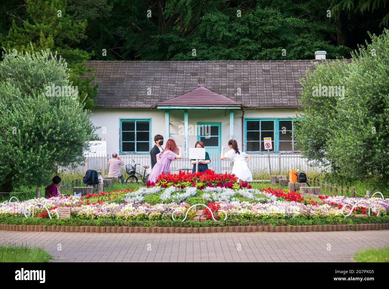
[[[201,193],[199,193],[199,191]],[[317,201],[311,201],[310,195],[301,195],[298,192],[289,192],[284,190],[268,189],[238,189],[233,190],[225,187],[207,187],[204,190],[198,190],[195,187],[185,187],[180,189],[177,187],[162,188],[159,186],[142,187],[137,191],[122,190],[127,192],[124,203],[102,203],[98,201],[91,203],[89,198],[92,195],[87,195],[82,198],[77,197],[52,197],[50,199],[39,198],[24,202],[13,202],[0,205],[0,215],[10,217],[22,217],[26,208],[31,208],[35,204],[42,203],[49,208],[52,217],[55,219],[54,213],[59,206],[72,208],[72,217],[86,220],[95,219],[112,219],[124,221],[169,221],[172,220],[172,212],[175,213],[175,219],[183,218],[189,203],[183,202],[184,199],[202,194],[201,198],[206,200],[210,209],[218,220],[224,219],[224,213],[218,210],[226,211],[228,221],[243,222],[254,221],[266,223],[270,219],[336,219],[339,223],[340,219],[345,219],[341,209],[346,206],[345,212],[348,213],[350,208],[363,198],[343,197],[343,196],[319,196]],[[109,195],[110,192],[107,193]],[[141,197],[156,194],[166,201],[165,203],[148,204],[142,203]],[[101,196],[96,194],[97,196]],[[250,201],[239,201],[238,197]],[[93,197],[93,196],[92,196]],[[95,196],[96,197],[96,196]],[[135,202],[134,200],[138,200]],[[389,201],[379,198],[369,199],[372,215],[380,216],[387,215],[389,211]],[[199,208],[203,209],[203,208]],[[362,204],[354,209],[353,215],[356,213],[367,213],[366,205]],[[193,219],[196,214],[195,208],[188,213],[187,220]],[[210,218],[210,212],[205,209],[203,215]],[[47,218],[47,212],[43,207],[36,208],[34,217]],[[209,221],[212,224],[213,221]],[[335,221],[334,221],[335,222]],[[212,226],[212,225],[211,225]]]

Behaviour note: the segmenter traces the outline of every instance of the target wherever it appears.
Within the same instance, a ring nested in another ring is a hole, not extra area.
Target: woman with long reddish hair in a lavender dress
[[[158,176],[162,172],[165,172],[165,174],[168,173],[172,160],[182,159],[181,150],[173,139],[168,139],[168,141],[166,142],[165,150],[158,153],[156,157],[157,163],[152,168],[149,176],[149,181],[151,183],[155,183]]]

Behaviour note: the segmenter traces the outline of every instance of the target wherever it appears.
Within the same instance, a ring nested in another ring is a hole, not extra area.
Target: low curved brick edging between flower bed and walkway
[[[229,226],[229,227],[114,227],[46,226],[0,224],[0,230],[23,232],[79,233],[244,233],[244,232],[333,232],[389,229],[389,223],[312,226]]]

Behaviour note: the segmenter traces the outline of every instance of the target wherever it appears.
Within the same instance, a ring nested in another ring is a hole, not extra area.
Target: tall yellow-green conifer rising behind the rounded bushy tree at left
[[[78,87],[79,100],[84,108],[90,109],[95,106],[97,85],[91,86],[93,76],[86,77],[89,70],[85,62],[93,51],[78,46],[87,38],[88,19],[94,19],[96,12],[86,15],[84,10],[76,9],[74,1],[69,3],[71,5],[65,0],[25,0],[21,5],[23,10],[8,12],[12,24],[0,40],[6,50],[15,53],[46,48],[57,51],[69,64],[70,80]]]

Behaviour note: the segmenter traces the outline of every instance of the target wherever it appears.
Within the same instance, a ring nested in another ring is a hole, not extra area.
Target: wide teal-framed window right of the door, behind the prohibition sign
[[[292,122],[292,151],[279,151],[279,142],[280,142],[280,121],[291,121]],[[270,153],[296,153],[299,154],[300,151],[294,152],[294,144],[296,141],[294,141],[294,122],[292,118],[244,118],[244,149],[246,153],[250,154],[265,154],[267,153],[267,150],[265,151],[248,151],[247,150],[247,121],[258,121],[259,122],[259,130],[261,128],[261,121],[273,121],[274,122],[274,150],[270,151]],[[253,130],[254,131],[254,130]],[[256,130],[255,130],[256,131]],[[261,139],[258,141],[260,142]],[[259,145],[259,148],[261,148],[261,144]]]

